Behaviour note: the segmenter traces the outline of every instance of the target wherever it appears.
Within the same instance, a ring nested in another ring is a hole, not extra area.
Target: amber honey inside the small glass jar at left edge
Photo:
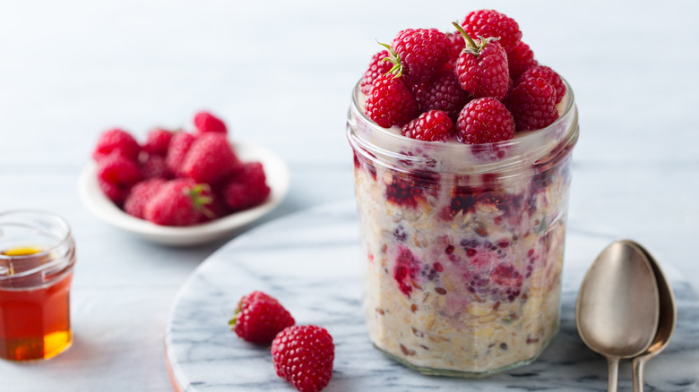
[[[23,266],[41,267],[52,261],[39,247],[21,246],[0,255],[21,258]],[[37,255],[33,257],[33,255]],[[21,273],[12,264],[9,276]],[[70,325],[72,268],[18,277],[0,285],[0,357],[14,361],[51,358],[73,342]]]

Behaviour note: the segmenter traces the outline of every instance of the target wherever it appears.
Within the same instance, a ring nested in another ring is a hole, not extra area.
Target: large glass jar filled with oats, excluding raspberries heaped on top
[[[554,124],[511,141],[416,141],[348,114],[369,337],[420,372],[483,377],[534,361],[557,333],[572,89]]]

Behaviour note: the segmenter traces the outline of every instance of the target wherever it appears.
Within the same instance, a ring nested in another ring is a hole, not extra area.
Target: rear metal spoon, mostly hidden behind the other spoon
[[[643,248],[639,243],[634,243],[634,245],[643,251],[646,259],[651,263],[655,280],[658,282],[658,294],[660,295],[658,331],[655,333],[651,346],[641,355],[634,358],[632,366],[634,392],[643,392],[643,365],[668,346],[677,326],[677,305],[675,304],[675,294],[672,293],[672,287],[669,285],[668,278],[662,273],[658,261],[655,260],[651,252]]]

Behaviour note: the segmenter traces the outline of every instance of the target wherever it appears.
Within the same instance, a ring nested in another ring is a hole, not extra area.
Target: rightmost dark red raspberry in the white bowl
[[[247,162],[223,186],[221,195],[233,211],[249,209],[269,197],[271,190],[265,181],[262,164]]]

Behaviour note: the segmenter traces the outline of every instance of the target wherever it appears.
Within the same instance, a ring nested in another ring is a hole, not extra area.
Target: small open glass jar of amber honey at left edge
[[[0,213],[0,358],[47,359],[72,344],[74,264],[75,242],[62,217]]]

